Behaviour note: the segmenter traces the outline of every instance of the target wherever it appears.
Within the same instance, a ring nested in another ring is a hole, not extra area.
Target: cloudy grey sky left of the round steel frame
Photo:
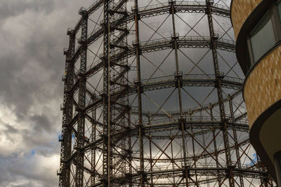
[[[57,186],[66,30],[91,1],[0,0],[0,186]]]

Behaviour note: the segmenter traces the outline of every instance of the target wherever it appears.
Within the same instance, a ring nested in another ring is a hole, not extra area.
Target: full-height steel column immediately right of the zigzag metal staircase
[[[137,94],[138,94],[138,139],[140,144],[140,185],[144,187],[144,163],[143,163],[143,106],[142,106],[142,88],[141,88],[141,50],[140,50],[140,34],[138,21],[140,16],[138,15],[138,0],[135,0],[135,27],[136,27],[136,68],[137,68]]]

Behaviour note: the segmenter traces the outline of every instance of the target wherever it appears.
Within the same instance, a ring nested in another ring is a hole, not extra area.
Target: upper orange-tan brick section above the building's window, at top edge
[[[233,0],[231,6],[231,20],[233,22],[236,39],[245,20],[247,20],[250,13],[254,11],[254,8],[256,8],[261,1],[262,0]]]

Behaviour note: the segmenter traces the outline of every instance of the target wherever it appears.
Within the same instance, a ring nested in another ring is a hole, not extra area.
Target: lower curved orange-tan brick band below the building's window
[[[250,127],[263,111],[281,99],[280,57],[281,46],[261,60],[244,83]]]

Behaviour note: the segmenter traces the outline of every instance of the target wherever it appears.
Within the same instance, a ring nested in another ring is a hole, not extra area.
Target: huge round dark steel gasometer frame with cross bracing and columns
[[[96,0],[68,29],[59,186],[273,186],[230,1]]]

